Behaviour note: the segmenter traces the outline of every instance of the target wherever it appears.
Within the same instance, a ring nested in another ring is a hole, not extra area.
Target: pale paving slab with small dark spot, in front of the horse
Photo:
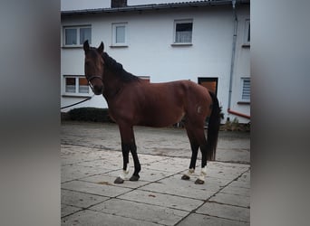
[[[120,195],[118,198],[134,202],[143,202],[153,205],[170,207],[188,212],[196,209],[197,207],[199,207],[199,205],[203,203],[199,200],[193,200],[175,195],[153,193],[140,190],[134,190],[130,193],[125,193],[123,195]]]

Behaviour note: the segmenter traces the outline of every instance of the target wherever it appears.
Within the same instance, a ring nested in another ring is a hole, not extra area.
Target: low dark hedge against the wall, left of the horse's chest
[[[76,121],[113,122],[107,108],[74,108],[68,114]]]

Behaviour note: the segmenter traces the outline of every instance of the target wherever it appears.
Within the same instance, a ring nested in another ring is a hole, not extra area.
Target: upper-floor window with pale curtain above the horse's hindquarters
[[[191,44],[193,32],[192,20],[177,20],[174,22],[174,44]]]

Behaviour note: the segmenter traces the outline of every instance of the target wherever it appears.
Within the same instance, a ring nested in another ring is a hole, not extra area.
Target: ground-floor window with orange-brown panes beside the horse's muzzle
[[[89,96],[88,81],[81,76],[64,76],[64,92],[67,95]]]

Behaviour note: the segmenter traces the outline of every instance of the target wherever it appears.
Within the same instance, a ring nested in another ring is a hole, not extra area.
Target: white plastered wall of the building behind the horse
[[[193,19],[193,45],[171,46],[174,20],[189,18]],[[116,22],[128,23],[128,48],[110,47],[111,23]],[[135,75],[149,75],[151,82],[169,80],[198,82],[198,77],[218,77],[218,99],[224,112],[227,113],[234,24],[231,6],[195,8],[190,11],[178,9],[141,14],[127,12],[72,16],[71,19],[63,20],[62,24],[92,24],[93,46],[104,42],[105,52],[121,62],[126,71]],[[240,52],[237,56],[238,64],[245,63],[248,66],[239,66],[237,73],[249,74],[249,62],[243,62],[242,54]],[[62,49],[63,74],[83,74],[82,48]],[[234,83],[234,90],[239,89],[237,85]],[[62,106],[74,101],[76,99],[62,98]],[[107,108],[102,97],[95,97],[74,108],[82,106]]]

